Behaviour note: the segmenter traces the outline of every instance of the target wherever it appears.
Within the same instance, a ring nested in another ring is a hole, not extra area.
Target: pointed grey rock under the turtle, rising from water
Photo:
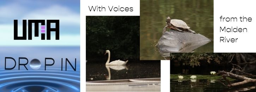
[[[175,30],[166,31],[156,44],[160,54],[165,53],[187,53],[210,42],[209,38],[201,34],[190,32],[179,32]],[[162,55],[165,57],[166,55]]]

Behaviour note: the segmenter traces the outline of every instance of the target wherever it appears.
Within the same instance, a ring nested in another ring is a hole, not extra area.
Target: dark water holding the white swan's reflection
[[[125,66],[105,66],[105,63],[88,61],[86,63],[86,81],[161,77],[160,61],[129,61]]]

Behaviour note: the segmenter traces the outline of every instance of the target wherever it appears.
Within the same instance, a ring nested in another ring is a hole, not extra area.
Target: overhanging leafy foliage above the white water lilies
[[[200,61],[220,64],[223,59],[230,60],[232,53],[171,53],[170,60],[183,61],[183,65],[200,66]]]

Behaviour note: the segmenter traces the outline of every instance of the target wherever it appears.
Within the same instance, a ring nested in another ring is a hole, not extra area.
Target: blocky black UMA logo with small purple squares
[[[59,20],[47,20],[47,24],[45,26],[45,20],[28,20],[28,39],[32,40],[32,23],[35,23],[35,37],[38,37],[38,24],[41,23],[41,39],[45,39],[45,27],[46,28],[46,34],[47,34],[47,40],[50,40],[50,32],[55,32],[55,39],[59,40],[60,37],[60,31],[59,31]],[[55,28],[51,28],[51,23],[55,23]],[[26,20],[23,20],[23,30],[22,30],[22,36],[18,36],[18,20],[14,20],[14,40],[26,40]]]

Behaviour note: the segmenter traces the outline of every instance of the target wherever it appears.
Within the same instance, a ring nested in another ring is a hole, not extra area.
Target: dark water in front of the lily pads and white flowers
[[[225,81],[222,81],[225,82]],[[238,81],[230,81],[231,83]],[[177,79],[171,80],[171,92],[255,92],[254,85],[243,85],[237,87],[226,87],[221,82],[207,80],[207,79],[197,79],[196,82],[189,80],[178,81]]]

